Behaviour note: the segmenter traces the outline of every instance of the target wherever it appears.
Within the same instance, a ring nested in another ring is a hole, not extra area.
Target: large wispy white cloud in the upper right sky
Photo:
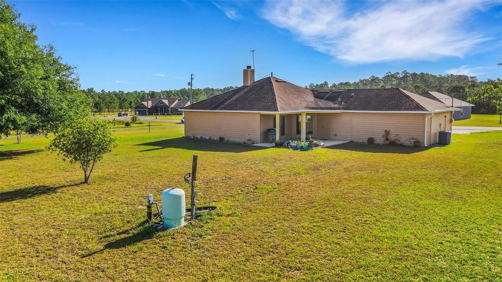
[[[490,0],[371,2],[353,13],[342,1],[269,0],[263,16],[306,45],[351,63],[463,57],[487,40],[461,24]],[[369,5],[369,6],[368,6]]]

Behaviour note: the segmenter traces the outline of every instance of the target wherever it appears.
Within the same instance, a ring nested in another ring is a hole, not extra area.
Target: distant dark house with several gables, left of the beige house
[[[180,114],[181,108],[190,105],[190,100],[179,98],[148,98],[134,107],[135,113],[138,115],[167,115]]]

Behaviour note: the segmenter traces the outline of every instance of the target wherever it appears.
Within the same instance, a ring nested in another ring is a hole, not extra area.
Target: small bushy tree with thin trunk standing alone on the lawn
[[[105,153],[117,146],[108,124],[96,118],[80,118],[55,134],[49,149],[62,154],[71,164],[78,163],[84,171],[84,183]]]

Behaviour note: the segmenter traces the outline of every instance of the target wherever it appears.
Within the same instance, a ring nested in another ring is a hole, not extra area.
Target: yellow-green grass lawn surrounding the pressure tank
[[[0,281],[502,279],[502,131],[309,152],[182,132],[117,130],[89,185],[47,138],[3,140]],[[217,214],[153,231],[145,196],[189,192],[193,154],[198,204]]]

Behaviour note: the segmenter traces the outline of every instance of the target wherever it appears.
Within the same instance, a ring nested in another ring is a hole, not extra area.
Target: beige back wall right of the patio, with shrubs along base
[[[424,142],[425,114],[419,113],[338,113],[329,114],[331,139],[367,142],[373,137],[382,144],[382,135],[391,130],[391,139],[399,134],[401,143],[411,146],[407,139],[415,137]]]

